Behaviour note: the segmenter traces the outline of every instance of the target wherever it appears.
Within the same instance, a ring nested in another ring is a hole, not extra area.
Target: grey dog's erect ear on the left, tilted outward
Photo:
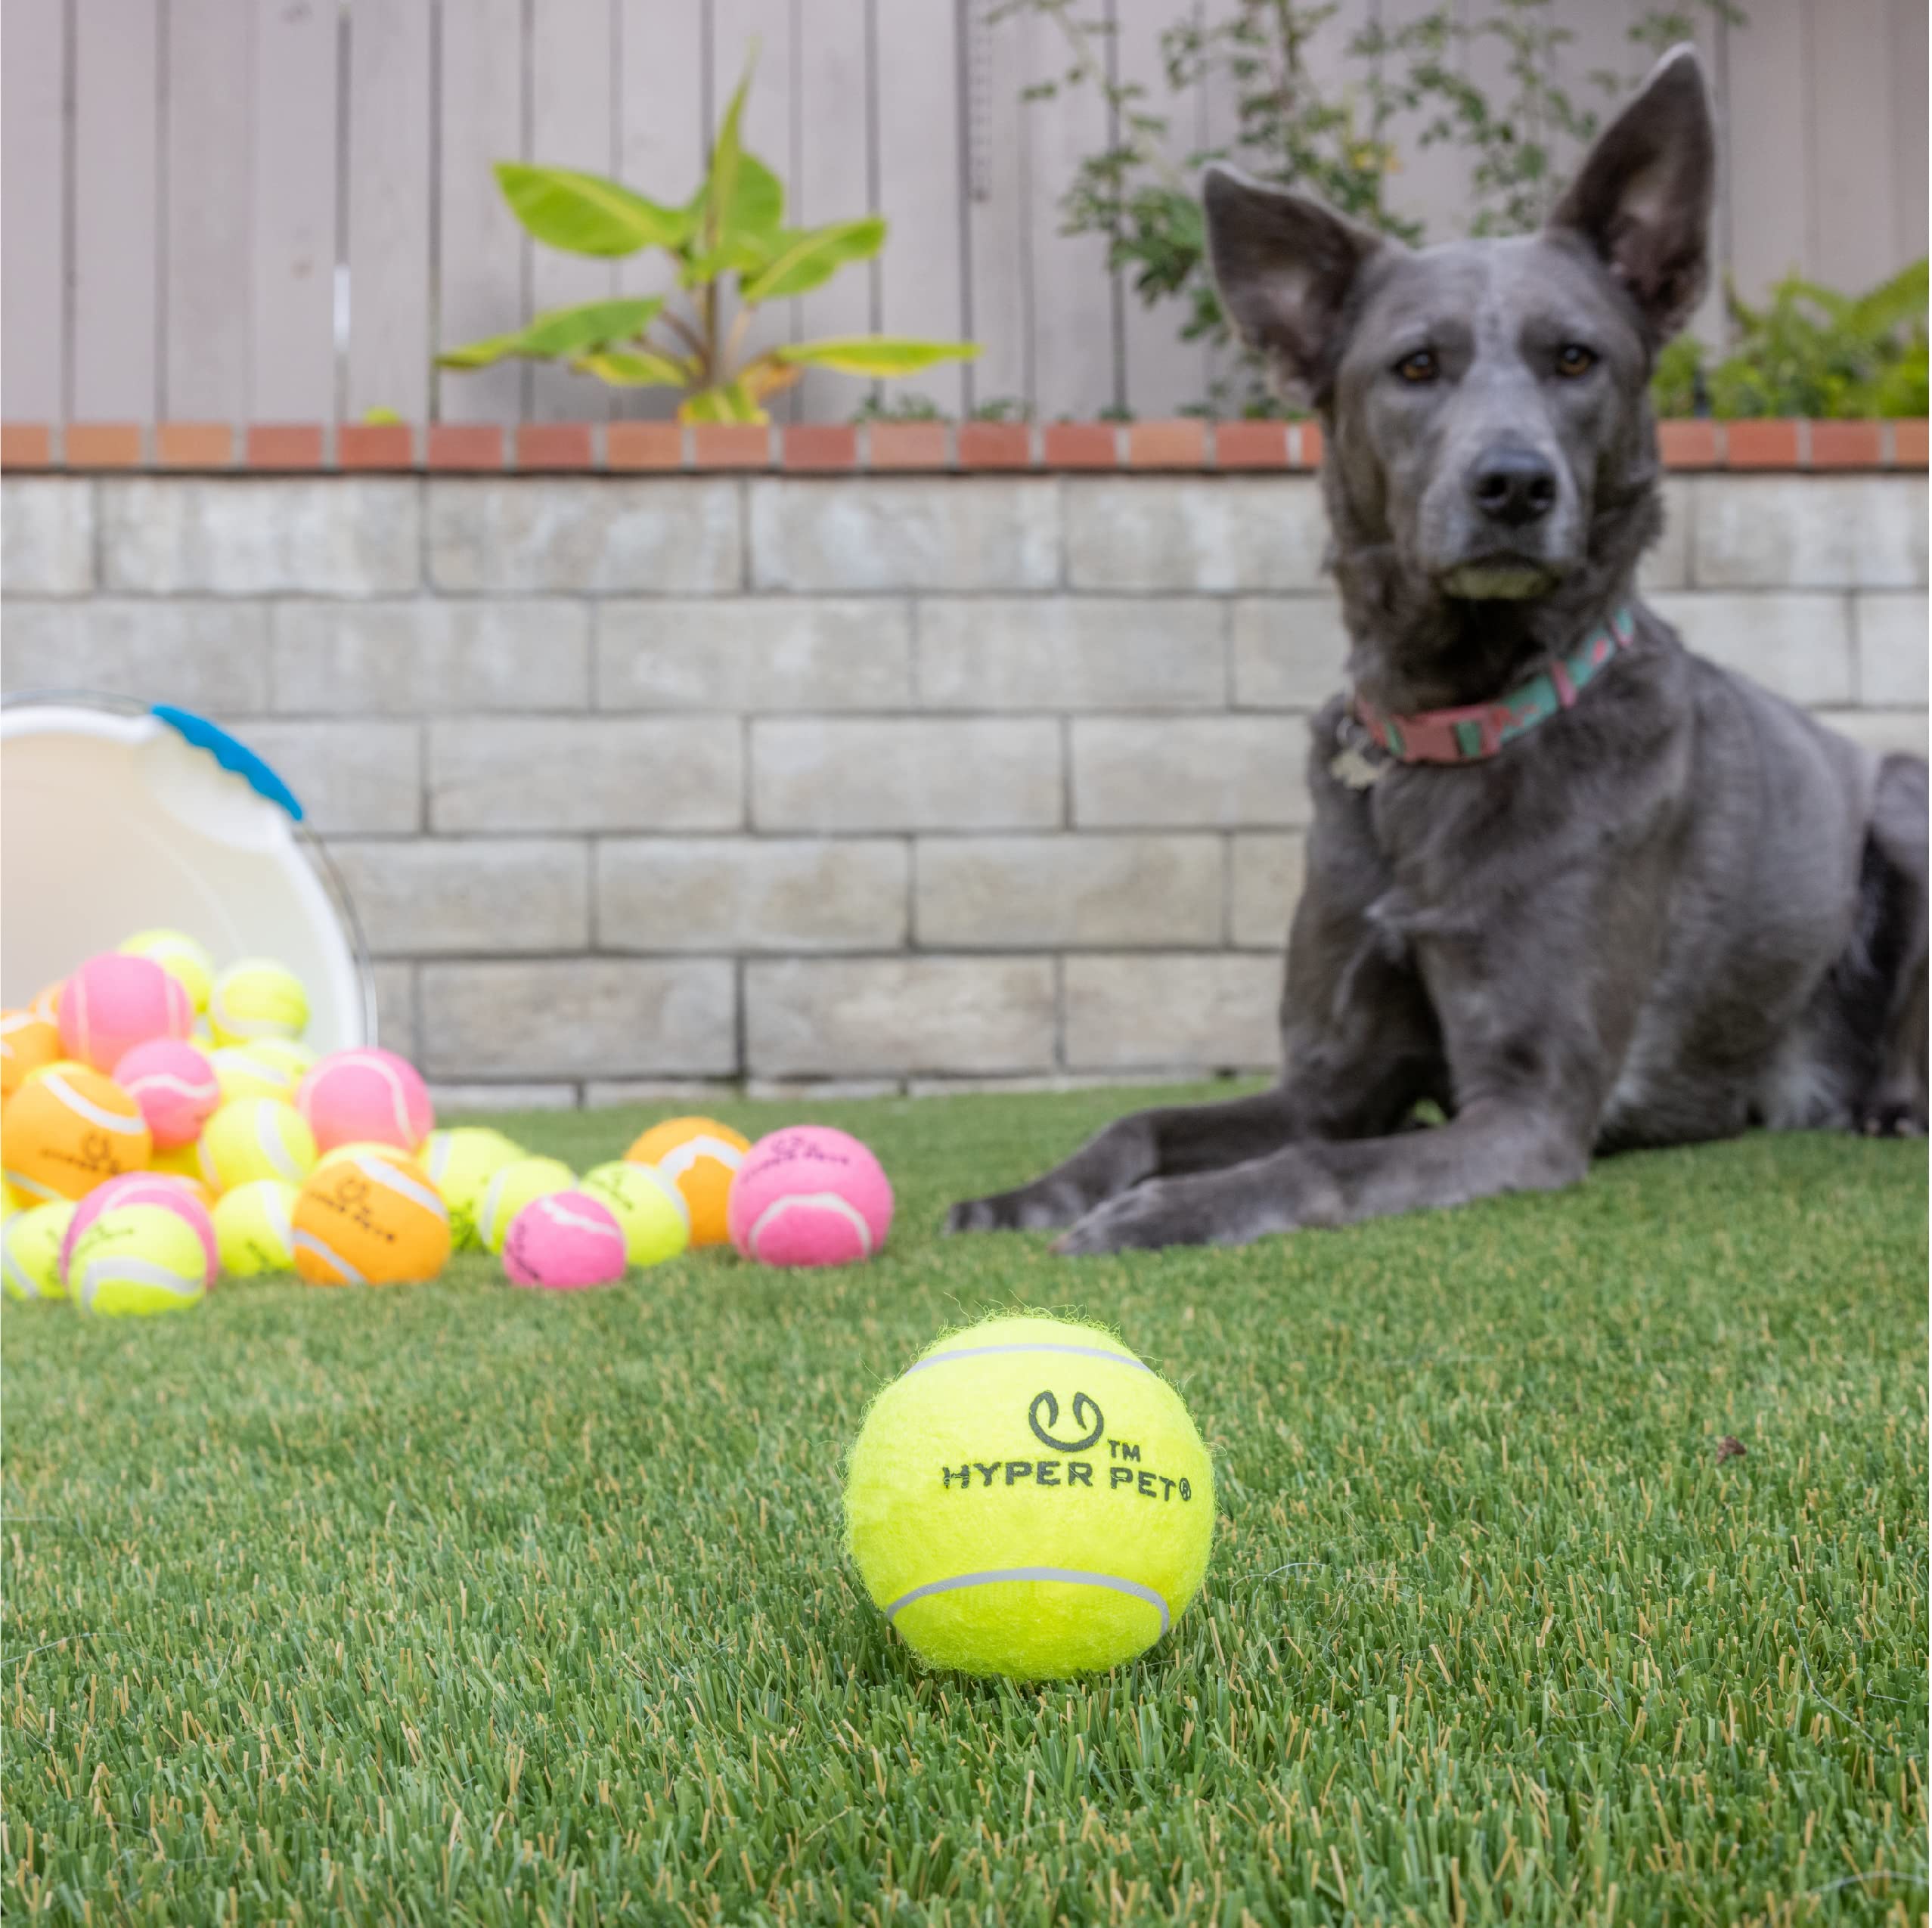
[[[1238,168],[1202,182],[1208,259],[1229,321],[1298,388],[1327,384],[1335,323],[1381,236]]]

